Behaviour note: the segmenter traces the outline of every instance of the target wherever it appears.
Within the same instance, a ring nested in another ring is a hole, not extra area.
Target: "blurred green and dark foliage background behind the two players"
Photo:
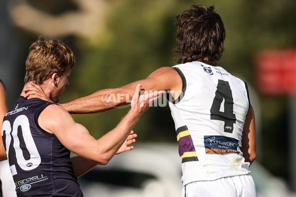
[[[33,7],[39,15],[30,18],[33,12],[29,9],[25,12],[26,9],[20,9],[19,4]],[[76,66],[70,86],[60,100],[66,102],[100,89],[120,87],[146,78],[159,67],[174,66],[175,17],[191,4],[215,5],[221,15],[226,40],[219,64],[245,80],[253,90],[251,102],[258,118],[260,163],[274,175],[289,180],[290,96],[261,95],[256,90],[254,57],[264,48],[296,46],[296,3],[293,0],[10,0],[10,36],[17,49],[12,56],[16,79],[13,92],[8,95],[14,98],[8,100],[8,105],[22,90],[28,47],[38,35],[62,38],[74,51]],[[45,29],[43,22],[47,21],[46,16],[40,13],[50,15],[48,21],[56,21],[56,24],[59,18],[70,13],[79,13],[81,18],[92,14],[93,18],[87,20],[89,24],[71,17],[62,26],[48,22],[45,25],[50,29]],[[26,23],[26,18],[31,21]],[[4,70],[2,66],[1,70]],[[4,83],[10,84],[11,79],[4,75],[1,71]],[[6,86],[11,87],[11,84]],[[113,109],[73,117],[99,138],[113,129],[127,110]],[[138,133],[138,142],[176,142],[168,106],[151,107],[134,131]]]

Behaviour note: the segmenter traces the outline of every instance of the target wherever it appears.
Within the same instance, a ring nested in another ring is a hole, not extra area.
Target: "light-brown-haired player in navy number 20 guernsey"
[[[55,103],[26,99],[22,92],[4,116],[2,139],[18,197],[83,197],[76,177],[133,149],[133,126],[163,93],[140,96],[141,84],[136,84],[129,112],[95,139],[56,104],[74,65],[72,50],[58,39],[39,37],[29,48],[25,87],[35,82]],[[70,151],[78,156],[70,158]]]

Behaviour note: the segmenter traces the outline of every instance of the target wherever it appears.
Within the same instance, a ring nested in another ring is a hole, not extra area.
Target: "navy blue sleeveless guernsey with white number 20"
[[[83,197],[70,151],[37,123],[51,104],[20,96],[4,116],[2,139],[18,197]]]

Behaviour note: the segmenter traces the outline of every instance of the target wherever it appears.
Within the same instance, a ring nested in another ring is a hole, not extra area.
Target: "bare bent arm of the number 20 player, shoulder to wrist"
[[[68,150],[97,164],[107,164],[138,118],[137,115],[128,113],[116,128],[100,139],[95,139],[84,126],[75,123],[72,116],[59,105],[47,106],[40,113],[38,124],[45,131],[55,134]]]

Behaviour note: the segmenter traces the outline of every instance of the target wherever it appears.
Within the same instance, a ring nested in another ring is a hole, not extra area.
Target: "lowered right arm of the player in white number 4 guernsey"
[[[242,147],[243,157],[246,162],[252,164],[256,159],[256,129],[255,129],[255,115],[252,105],[248,110],[244,131],[242,135]]]

